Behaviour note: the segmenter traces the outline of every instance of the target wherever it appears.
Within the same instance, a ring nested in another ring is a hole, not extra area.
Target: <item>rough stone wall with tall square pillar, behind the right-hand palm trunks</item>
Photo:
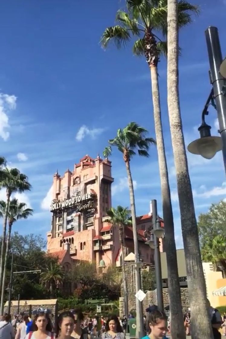
[[[128,309],[129,312],[136,310],[136,297],[135,297],[135,267],[134,262],[128,262],[125,264],[126,266],[126,278],[127,278],[127,288],[128,288]],[[119,313],[120,317],[124,314],[124,291],[123,285],[121,285],[121,298],[119,298]],[[183,312],[185,312],[188,307],[188,290],[186,287],[181,288],[181,302]],[[148,291],[146,293],[146,297],[142,301],[143,313],[145,313],[145,309],[148,308],[149,305],[157,305],[157,293],[156,290]],[[168,289],[163,288],[163,304],[166,307],[169,304],[168,300]]]

